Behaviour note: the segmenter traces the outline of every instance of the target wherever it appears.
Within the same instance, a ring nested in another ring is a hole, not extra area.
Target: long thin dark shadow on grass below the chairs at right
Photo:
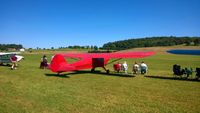
[[[180,77],[164,77],[164,76],[145,76],[145,77],[155,78],[155,79],[165,79],[165,80],[182,80],[182,81],[200,82],[198,79],[187,79],[187,78],[180,78]]]

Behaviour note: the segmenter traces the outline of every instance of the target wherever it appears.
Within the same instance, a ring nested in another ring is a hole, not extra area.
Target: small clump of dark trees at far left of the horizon
[[[21,44],[0,44],[1,51],[19,50],[23,48]]]

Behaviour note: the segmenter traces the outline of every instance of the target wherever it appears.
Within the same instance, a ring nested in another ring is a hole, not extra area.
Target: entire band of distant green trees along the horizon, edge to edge
[[[147,37],[147,38],[137,38],[137,39],[127,39],[115,42],[108,42],[103,45],[103,47],[97,46],[68,46],[68,47],[59,47],[58,49],[89,49],[89,50],[125,50],[130,48],[137,47],[155,47],[155,46],[174,46],[185,44],[187,46],[200,46],[200,37]],[[1,51],[9,51],[9,50],[19,50],[23,48],[21,44],[0,44]],[[29,48],[32,49],[32,48]],[[37,47],[37,50],[41,48]],[[45,48],[43,48],[45,49]],[[51,47],[51,49],[55,49]]]

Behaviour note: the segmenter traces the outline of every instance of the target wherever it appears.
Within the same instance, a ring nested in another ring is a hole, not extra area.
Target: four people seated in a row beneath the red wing
[[[120,72],[121,70],[124,71],[126,74],[128,73],[128,64],[126,63],[126,61],[121,64],[121,63],[117,63],[113,65],[114,70],[116,72]],[[146,74],[148,71],[148,66],[147,64],[145,64],[143,61],[141,62],[141,64],[138,64],[137,62],[135,62],[132,66],[132,73],[137,74],[137,73],[141,73],[141,74]]]

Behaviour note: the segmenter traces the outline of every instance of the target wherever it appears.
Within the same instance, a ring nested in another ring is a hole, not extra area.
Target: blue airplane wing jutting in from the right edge
[[[183,55],[200,55],[200,50],[169,50],[168,53]]]

